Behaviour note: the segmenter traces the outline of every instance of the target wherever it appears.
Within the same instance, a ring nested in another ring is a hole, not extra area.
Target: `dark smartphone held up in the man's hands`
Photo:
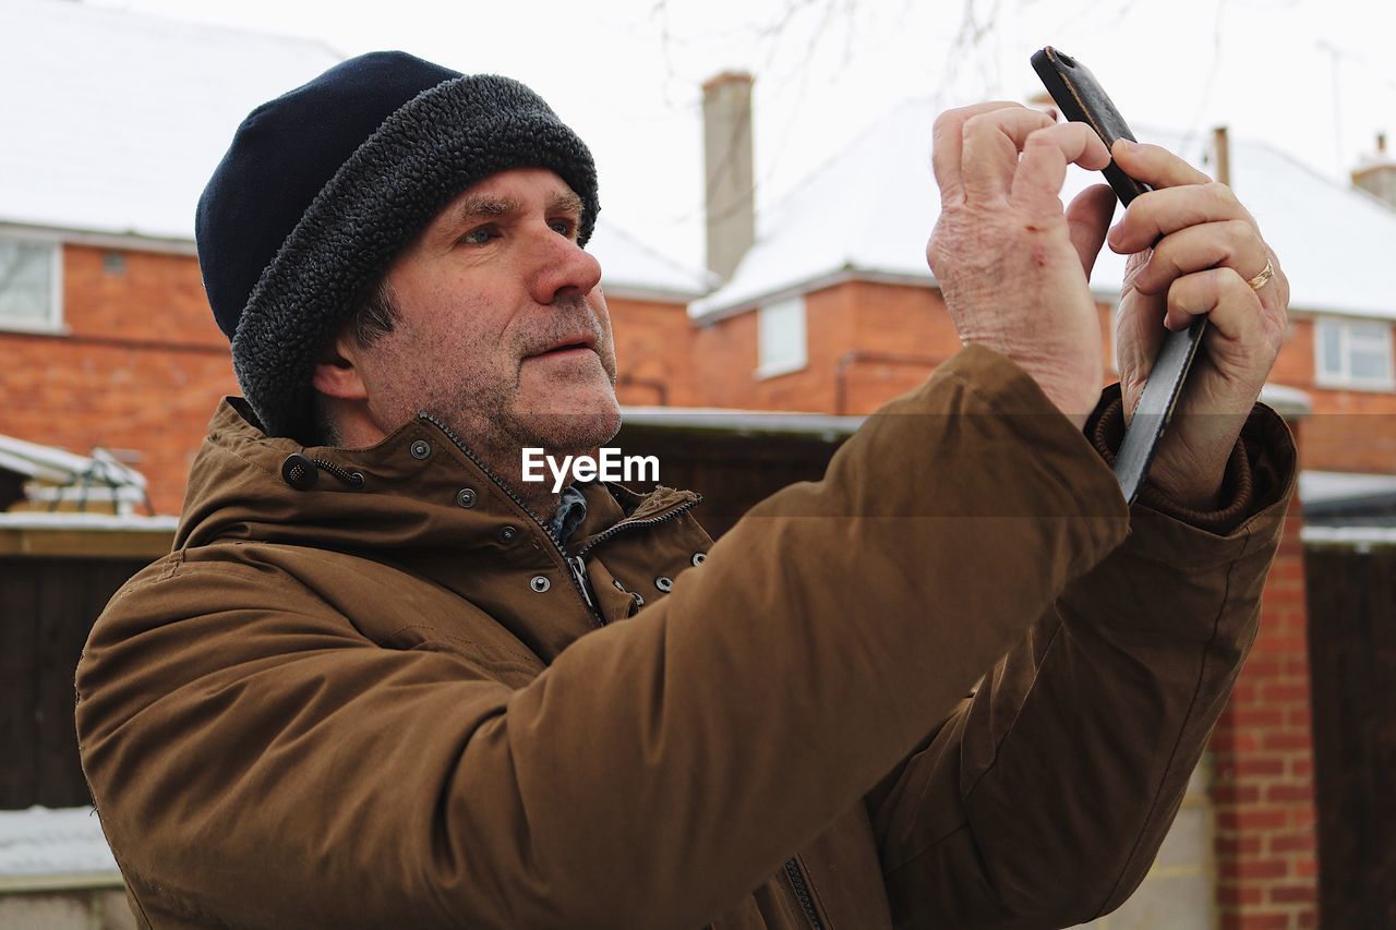
[[[1032,63],[1051,99],[1068,120],[1090,126],[1107,148],[1114,145],[1117,138],[1138,141],[1110,95],[1085,64],[1051,46],[1034,52]],[[1125,175],[1114,159],[1103,173],[1125,207],[1139,194],[1149,191],[1148,184],[1141,184]],[[1202,345],[1206,325],[1203,317],[1187,330],[1168,332],[1159,348],[1159,357],[1149,371],[1149,380],[1143,385],[1129,429],[1125,430],[1120,452],[1115,455],[1115,479],[1129,503],[1139,496],[1139,489],[1148,478],[1149,464],[1173,419],[1173,409],[1182,392],[1188,369],[1198,355],[1198,346]]]

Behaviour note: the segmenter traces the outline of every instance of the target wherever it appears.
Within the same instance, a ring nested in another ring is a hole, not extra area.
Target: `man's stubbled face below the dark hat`
[[[440,415],[486,455],[586,451],[620,429],[600,265],[581,200],[546,169],[466,189],[394,261],[401,320],[363,350],[373,418]]]

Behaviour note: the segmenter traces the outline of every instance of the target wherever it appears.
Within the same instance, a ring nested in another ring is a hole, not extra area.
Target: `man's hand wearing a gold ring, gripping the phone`
[[[1107,239],[1129,256],[1115,324],[1125,416],[1139,402],[1164,327],[1182,330],[1206,316],[1149,480],[1178,503],[1209,510],[1284,342],[1290,285],[1230,187],[1156,145],[1121,140],[1113,155],[1125,173],[1154,189],[1129,204]]]

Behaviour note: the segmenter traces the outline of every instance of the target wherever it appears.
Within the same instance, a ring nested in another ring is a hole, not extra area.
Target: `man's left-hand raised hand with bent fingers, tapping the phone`
[[[1013,359],[1082,426],[1104,377],[1086,281],[1114,194],[1092,187],[1062,209],[1061,186],[1069,163],[1104,168],[1104,142],[1002,102],[948,110],[934,138],[941,215],[926,257],[960,339]]]

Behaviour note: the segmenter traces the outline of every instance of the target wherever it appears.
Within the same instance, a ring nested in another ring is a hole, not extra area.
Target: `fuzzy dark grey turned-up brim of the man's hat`
[[[532,91],[469,75],[395,110],[335,172],[262,272],[233,337],[233,370],[272,436],[309,441],[318,355],[394,257],[476,182],[511,168],[554,170],[596,222],[586,145]]]

